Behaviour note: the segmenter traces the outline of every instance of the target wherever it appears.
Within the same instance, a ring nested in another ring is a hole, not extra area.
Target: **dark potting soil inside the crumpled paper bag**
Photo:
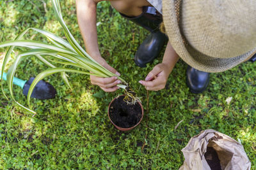
[[[207,147],[206,152],[204,153],[205,160],[212,170],[221,170],[220,159],[218,157],[218,153],[214,148]]]

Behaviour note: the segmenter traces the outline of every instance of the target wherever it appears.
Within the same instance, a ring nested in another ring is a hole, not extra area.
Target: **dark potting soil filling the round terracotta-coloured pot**
[[[109,107],[109,117],[118,127],[132,127],[138,124],[142,117],[140,104],[127,104],[124,96],[117,97]]]

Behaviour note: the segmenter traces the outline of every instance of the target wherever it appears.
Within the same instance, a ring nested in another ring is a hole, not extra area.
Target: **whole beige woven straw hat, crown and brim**
[[[166,34],[180,58],[221,72],[256,53],[255,0],[163,0]]]

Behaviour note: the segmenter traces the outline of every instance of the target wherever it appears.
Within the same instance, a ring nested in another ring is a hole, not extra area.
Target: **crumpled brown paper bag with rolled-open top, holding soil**
[[[207,129],[191,138],[183,148],[184,163],[179,170],[249,170],[251,162],[243,145],[221,132]]]

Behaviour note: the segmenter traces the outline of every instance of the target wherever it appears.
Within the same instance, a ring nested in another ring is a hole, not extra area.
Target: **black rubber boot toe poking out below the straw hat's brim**
[[[187,68],[186,82],[192,93],[204,92],[209,84],[210,73],[199,71],[191,66]]]

